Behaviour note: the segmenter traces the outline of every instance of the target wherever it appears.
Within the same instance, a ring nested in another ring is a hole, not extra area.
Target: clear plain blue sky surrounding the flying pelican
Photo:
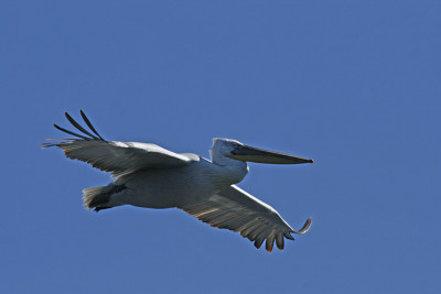
[[[440,1],[0,2],[1,293],[439,293]],[[83,209],[109,140],[312,157],[240,187],[311,230],[283,252],[176,209]]]

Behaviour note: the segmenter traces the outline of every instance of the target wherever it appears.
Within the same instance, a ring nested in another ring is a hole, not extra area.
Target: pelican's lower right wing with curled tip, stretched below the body
[[[265,239],[267,251],[276,244],[283,250],[284,238],[293,240],[291,232],[305,233],[312,222],[309,218],[300,230],[292,229],[280,215],[266,203],[232,185],[204,202],[180,207],[190,215],[219,229],[240,231],[244,238],[260,248]]]

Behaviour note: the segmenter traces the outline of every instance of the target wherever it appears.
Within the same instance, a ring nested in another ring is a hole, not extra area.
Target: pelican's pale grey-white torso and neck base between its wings
[[[140,170],[118,178],[127,189],[112,195],[109,205],[130,204],[147,208],[184,207],[239,183],[248,173],[247,164],[240,163],[234,166],[220,166],[198,157],[197,161],[192,161],[182,167]]]

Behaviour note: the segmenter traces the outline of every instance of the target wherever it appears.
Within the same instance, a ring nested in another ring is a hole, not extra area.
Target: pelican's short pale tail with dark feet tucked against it
[[[86,209],[95,208],[95,211],[111,208],[115,205],[110,204],[110,197],[114,194],[120,193],[126,189],[126,185],[109,184],[107,186],[99,186],[83,189],[84,207]]]

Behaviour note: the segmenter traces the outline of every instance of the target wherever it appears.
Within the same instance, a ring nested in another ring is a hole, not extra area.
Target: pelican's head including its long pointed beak
[[[314,162],[313,160],[306,160],[279,152],[248,146],[236,140],[219,138],[213,139],[213,148],[211,153],[213,161],[220,155],[243,162],[272,164],[299,164]]]

